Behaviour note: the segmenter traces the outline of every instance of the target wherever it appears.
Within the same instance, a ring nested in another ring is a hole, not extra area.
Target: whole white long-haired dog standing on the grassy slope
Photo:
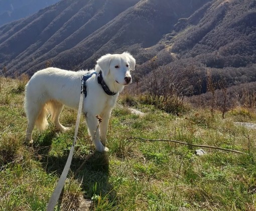
[[[135,69],[135,62],[135,58],[128,52],[106,54],[97,60],[95,70],[90,70],[96,72],[86,80],[87,95],[82,111],[91,138],[96,132],[92,143],[98,151],[108,150],[104,146],[108,119],[119,92],[132,82],[130,70]],[[81,76],[86,73],[87,70],[74,72],[49,67],[37,71],[31,77],[26,85],[24,105],[28,117],[27,141],[33,142],[32,131],[35,124],[40,130],[46,128],[48,111],[58,129],[68,129],[60,123],[59,115],[64,105],[78,109]],[[102,118],[99,130],[96,115]]]

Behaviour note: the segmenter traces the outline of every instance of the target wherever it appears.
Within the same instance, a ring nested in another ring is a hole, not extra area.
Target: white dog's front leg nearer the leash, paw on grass
[[[108,151],[108,148],[103,146],[99,139],[99,129],[97,127],[98,119],[93,115],[86,116],[86,122],[88,126],[88,132],[92,139],[92,144],[95,146],[97,151]]]

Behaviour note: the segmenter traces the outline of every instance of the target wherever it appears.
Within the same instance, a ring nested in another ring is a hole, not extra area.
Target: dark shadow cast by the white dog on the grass
[[[56,132],[45,134],[44,138],[39,141],[39,146],[34,146],[38,157],[42,162],[42,167],[47,173],[57,173],[59,176],[66,164],[69,150],[61,153],[62,155],[53,155],[49,153],[51,150],[51,141],[55,137]],[[100,197],[101,200],[108,201],[108,205],[114,205],[116,192],[113,186],[109,183],[109,161],[106,153],[93,151],[88,155],[76,155],[76,150],[73,155],[72,163],[68,177],[74,176],[78,182],[82,183],[82,191],[84,198],[92,199]]]

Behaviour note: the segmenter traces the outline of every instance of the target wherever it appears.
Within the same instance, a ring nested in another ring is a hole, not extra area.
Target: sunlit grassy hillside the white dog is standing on
[[[61,133],[50,124],[44,132],[34,131],[33,146],[24,142],[26,80],[1,77],[1,210],[45,210],[73,140],[76,112],[65,108],[61,121],[71,130]],[[146,114],[132,114],[127,102]],[[93,201],[93,210],[255,210],[256,131],[233,123],[255,120],[256,113],[242,107],[228,111],[225,119],[218,111],[212,116],[192,107],[175,116],[124,92],[111,115],[109,152],[87,157],[90,140],[81,122],[61,210],[77,210],[81,195]],[[198,156],[197,147],[135,136],[249,154],[205,148],[207,153]]]

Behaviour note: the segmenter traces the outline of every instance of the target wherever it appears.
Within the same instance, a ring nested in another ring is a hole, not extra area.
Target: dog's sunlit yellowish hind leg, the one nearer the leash
[[[69,127],[65,127],[60,123],[60,113],[64,107],[64,105],[58,101],[51,100],[47,103],[47,106],[50,109],[51,112],[51,119],[53,123],[55,124],[56,128],[59,129],[60,131],[64,131],[69,129]]]

